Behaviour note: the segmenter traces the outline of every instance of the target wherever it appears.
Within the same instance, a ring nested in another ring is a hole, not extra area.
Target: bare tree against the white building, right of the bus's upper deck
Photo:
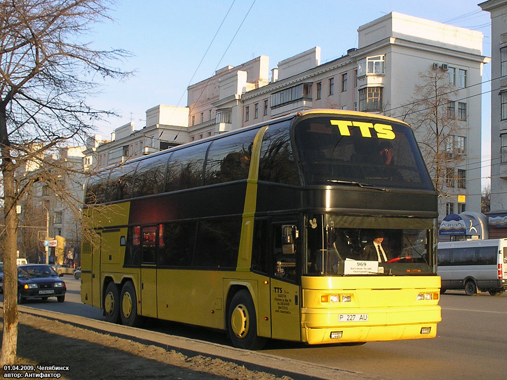
[[[460,122],[466,115],[455,109],[456,87],[449,81],[449,72],[432,68],[419,77],[412,102],[395,117],[411,124],[439,198],[444,199],[455,196],[454,187],[464,186],[456,168],[466,148],[466,130]]]

